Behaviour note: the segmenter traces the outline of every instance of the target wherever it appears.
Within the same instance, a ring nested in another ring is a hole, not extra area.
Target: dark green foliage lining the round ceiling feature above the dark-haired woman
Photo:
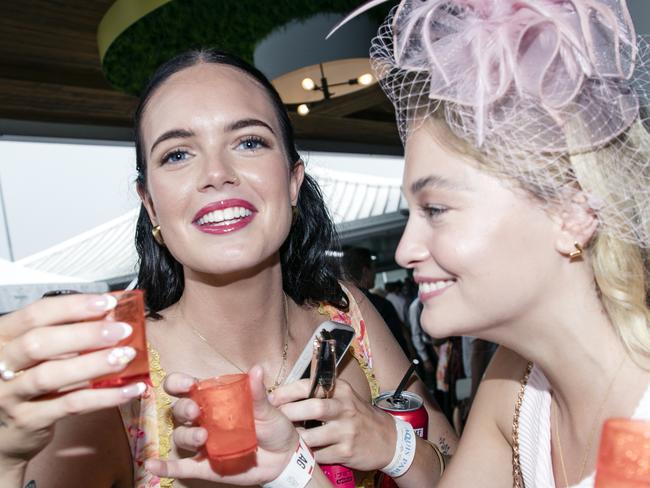
[[[137,95],[153,70],[191,48],[216,47],[249,62],[273,29],[319,12],[347,13],[361,0],[173,0],[124,31],[104,56],[103,70],[118,90]],[[388,9],[372,9],[379,25]]]

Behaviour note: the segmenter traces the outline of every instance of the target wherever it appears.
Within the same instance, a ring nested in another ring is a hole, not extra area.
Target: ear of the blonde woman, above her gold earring
[[[582,192],[576,192],[571,201],[563,205],[558,216],[560,232],[556,241],[557,250],[568,255],[575,251],[575,243],[587,247],[598,228],[598,217]]]

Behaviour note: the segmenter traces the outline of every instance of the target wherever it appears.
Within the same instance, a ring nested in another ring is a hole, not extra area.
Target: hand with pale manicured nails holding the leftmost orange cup
[[[120,345],[132,325],[105,319],[116,306],[109,294],[76,294],[0,317],[0,466],[25,466],[51,440],[59,419],[114,407],[144,391],[141,382],[87,388],[94,378],[125,370],[137,355]]]

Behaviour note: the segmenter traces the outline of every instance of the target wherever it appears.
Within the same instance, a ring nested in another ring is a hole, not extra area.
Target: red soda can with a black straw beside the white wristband
[[[393,398],[392,391],[382,393],[375,400],[375,406],[393,417],[398,417],[413,426],[418,437],[427,438],[429,433],[429,414],[424,408],[424,401],[415,393],[403,391],[398,398]],[[397,488],[397,484],[390,476],[378,473],[379,488]]]

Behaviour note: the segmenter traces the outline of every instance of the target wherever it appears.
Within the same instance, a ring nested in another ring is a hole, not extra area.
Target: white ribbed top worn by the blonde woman
[[[632,416],[650,420],[650,385]],[[555,488],[551,460],[551,387],[537,366],[528,378],[519,412],[519,459],[526,488]],[[571,488],[593,488],[591,473]]]

